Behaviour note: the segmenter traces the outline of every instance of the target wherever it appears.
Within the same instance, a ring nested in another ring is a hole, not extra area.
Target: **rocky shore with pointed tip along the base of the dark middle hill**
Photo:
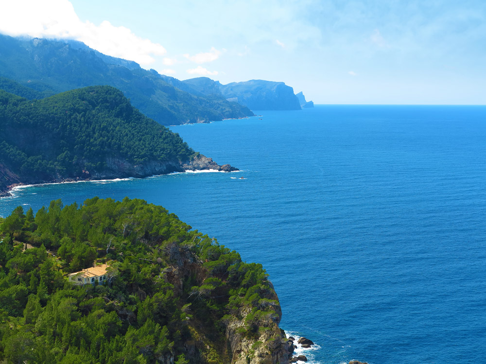
[[[0,198],[11,196],[10,191],[26,184],[45,184],[45,183],[63,183],[79,181],[97,181],[97,180],[114,180],[117,178],[145,178],[154,175],[169,174],[173,172],[197,171],[197,170],[216,170],[223,172],[233,172],[239,169],[229,164],[218,165],[202,154],[197,153],[190,160],[181,163],[180,161],[149,161],[144,164],[135,165],[127,160],[115,157],[108,157],[105,160],[106,168],[102,171],[83,170],[80,176],[65,177],[53,176],[51,179],[39,179],[35,176],[22,178],[12,172],[6,165],[0,161]]]

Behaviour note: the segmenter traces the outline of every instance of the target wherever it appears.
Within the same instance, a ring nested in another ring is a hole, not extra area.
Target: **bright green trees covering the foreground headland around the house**
[[[229,321],[250,339],[278,331],[261,265],[143,200],[18,207],[0,241],[1,363],[230,363]],[[65,278],[95,262],[110,284]]]

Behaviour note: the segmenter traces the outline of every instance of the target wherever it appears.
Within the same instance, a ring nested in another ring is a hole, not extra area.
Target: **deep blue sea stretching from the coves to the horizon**
[[[146,199],[262,263],[310,363],[474,363],[486,350],[486,107],[316,106],[176,126],[233,173],[34,186]],[[243,176],[241,180],[239,177]]]

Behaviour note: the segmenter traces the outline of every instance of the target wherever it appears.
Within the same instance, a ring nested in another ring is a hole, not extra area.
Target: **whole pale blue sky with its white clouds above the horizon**
[[[486,104],[485,0],[0,0],[0,33],[318,104]]]

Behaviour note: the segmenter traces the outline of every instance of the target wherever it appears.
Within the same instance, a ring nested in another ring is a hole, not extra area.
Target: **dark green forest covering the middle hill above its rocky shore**
[[[109,158],[140,166],[185,162],[193,154],[178,134],[142,115],[110,86],[34,101],[0,90],[0,164],[21,182],[111,172],[127,177]]]

